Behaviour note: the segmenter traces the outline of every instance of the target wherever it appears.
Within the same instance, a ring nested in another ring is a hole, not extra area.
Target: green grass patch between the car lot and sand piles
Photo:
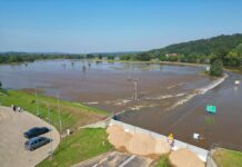
[[[109,150],[112,146],[107,140],[105,129],[85,128],[61,140],[53,154],[53,159],[46,159],[39,167],[69,167]]]

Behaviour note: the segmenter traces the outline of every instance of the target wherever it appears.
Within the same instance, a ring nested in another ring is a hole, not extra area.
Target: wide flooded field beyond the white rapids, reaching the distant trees
[[[202,68],[147,63],[52,60],[0,66],[0,71],[4,88],[42,89],[112,112],[167,108],[210,82]]]

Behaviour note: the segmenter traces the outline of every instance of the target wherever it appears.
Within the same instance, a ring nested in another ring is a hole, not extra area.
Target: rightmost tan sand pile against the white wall
[[[172,151],[169,155],[169,160],[175,167],[205,167],[194,153],[185,148]]]

